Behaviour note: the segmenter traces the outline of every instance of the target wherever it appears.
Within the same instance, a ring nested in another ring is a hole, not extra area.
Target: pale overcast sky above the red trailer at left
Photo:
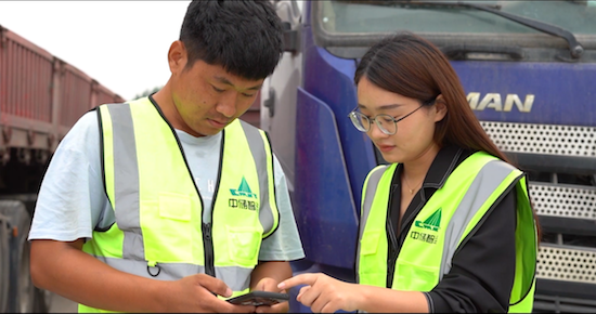
[[[0,1],[0,25],[132,100],[164,86],[190,0]]]

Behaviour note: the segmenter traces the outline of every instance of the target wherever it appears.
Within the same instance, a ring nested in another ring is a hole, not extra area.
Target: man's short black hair
[[[273,73],[283,53],[282,38],[282,22],[265,0],[194,0],[180,30],[186,67],[202,60],[251,80]]]

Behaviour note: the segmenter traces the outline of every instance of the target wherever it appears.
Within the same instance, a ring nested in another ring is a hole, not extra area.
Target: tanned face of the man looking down
[[[178,115],[171,122],[194,136],[217,134],[252,105],[263,80],[248,80],[200,60],[182,66],[172,73]]]

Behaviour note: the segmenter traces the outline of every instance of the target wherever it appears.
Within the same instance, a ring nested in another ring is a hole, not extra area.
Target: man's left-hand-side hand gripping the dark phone
[[[231,297],[232,290],[220,279],[206,274],[186,276],[180,280],[167,282],[167,300],[163,299],[164,312],[198,313],[254,313],[255,306],[234,305],[215,295]],[[213,295],[215,293],[215,295]]]

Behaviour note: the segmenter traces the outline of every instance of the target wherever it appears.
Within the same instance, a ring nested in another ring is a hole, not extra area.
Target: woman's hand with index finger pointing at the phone
[[[300,274],[282,282],[277,287],[289,289],[298,285],[307,286],[300,289],[296,300],[314,313],[359,310],[362,293],[359,292],[358,285],[344,283],[325,274]]]

